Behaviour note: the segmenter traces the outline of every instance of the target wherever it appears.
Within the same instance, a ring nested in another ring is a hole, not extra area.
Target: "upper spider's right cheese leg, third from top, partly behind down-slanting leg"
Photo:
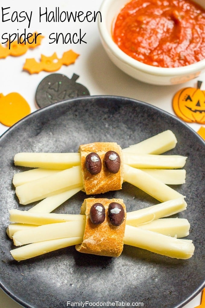
[[[167,185],[180,185],[186,182],[185,169],[140,169]]]

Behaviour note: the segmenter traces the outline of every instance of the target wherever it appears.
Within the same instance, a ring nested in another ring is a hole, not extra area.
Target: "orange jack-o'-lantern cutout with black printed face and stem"
[[[205,124],[205,91],[201,85],[202,81],[198,81],[197,88],[183,88],[173,98],[174,112],[185,122]]]

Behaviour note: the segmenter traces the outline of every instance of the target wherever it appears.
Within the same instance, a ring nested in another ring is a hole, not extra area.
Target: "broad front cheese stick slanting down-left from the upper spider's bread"
[[[20,204],[29,204],[82,185],[81,166],[75,166],[56,174],[16,187]]]

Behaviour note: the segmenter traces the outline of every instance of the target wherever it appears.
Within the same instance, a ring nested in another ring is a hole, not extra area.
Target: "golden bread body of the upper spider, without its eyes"
[[[104,164],[104,155],[108,151],[115,151],[121,160],[120,170],[117,173],[109,172]],[[95,142],[83,144],[79,148],[81,153],[81,171],[83,186],[87,195],[106,193],[111,190],[119,190],[123,183],[123,155],[122,149],[116,142]],[[102,169],[98,174],[91,174],[85,167],[85,158],[91,153],[97,153],[102,161]]]

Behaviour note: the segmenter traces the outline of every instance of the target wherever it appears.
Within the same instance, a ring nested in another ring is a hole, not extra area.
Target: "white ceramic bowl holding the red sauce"
[[[126,55],[112,40],[112,23],[120,9],[129,0],[104,0],[100,11],[102,22],[98,21],[102,45],[112,62],[128,75],[140,81],[156,85],[184,83],[205,72],[205,59],[184,67],[155,67],[141,63]],[[205,8],[204,0],[195,0]]]

